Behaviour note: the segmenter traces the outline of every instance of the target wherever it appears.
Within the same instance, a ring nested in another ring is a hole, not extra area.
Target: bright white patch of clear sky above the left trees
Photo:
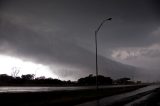
[[[18,76],[22,74],[35,74],[35,77],[58,78],[57,75],[51,72],[49,66],[36,64],[31,61],[23,61],[16,57],[0,55],[0,74],[11,75],[14,71],[13,68],[17,68],[20,71]]]

